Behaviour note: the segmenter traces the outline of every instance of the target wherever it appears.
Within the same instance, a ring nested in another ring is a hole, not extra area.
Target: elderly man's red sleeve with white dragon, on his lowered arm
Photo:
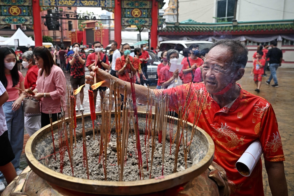
[[[265,104],[259,102],[255,107],[255,116],[257,118],[262,117],[257,128],[260,129],[259,139],[263,148],[264,159],[272,162],[285,161],[278,122],[272,105],[267,102]],[[265,111],[264,114],[262,114],[263,111]]]

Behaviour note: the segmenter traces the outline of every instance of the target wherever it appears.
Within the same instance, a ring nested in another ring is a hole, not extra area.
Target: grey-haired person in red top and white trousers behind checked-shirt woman
[[[33,51],[26,51],[22,54],[22,65],[24,68],[28,68],[26,77],[24,78],[24,88],[34,90],[36,88],[36,82],[38,78],[39,68],[33,62]],[[40,114],[24,114],[24,127],[29,136],[41,129],[41,112]]]

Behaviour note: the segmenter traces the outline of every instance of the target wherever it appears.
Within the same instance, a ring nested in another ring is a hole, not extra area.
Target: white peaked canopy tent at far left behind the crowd
[[[12,47],[14,46],[14,40],[19,40],[19,46],[35,46],[35,41],[31,40],[20,28],[13,34],[13,36],[9,37],[6,41],[0,42],[2,47]]]

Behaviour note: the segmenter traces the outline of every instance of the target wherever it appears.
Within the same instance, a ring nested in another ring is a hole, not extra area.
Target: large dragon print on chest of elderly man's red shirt
[[[244,144],[244,138],[245,136],[242,136],[240,139],[238,138],[238,135],[235,134],[230,127],[227,125],[227,123],[225,123],[225,125],[223,125],[223,123],[221,123],[220,127],[219,125],[216,124],[211,124],[212,128],[216,131],[216,132],[212,132],[216,134],[216,137],[218,138],[222,138],[225,137],[225,139],[227,140],[228,143],[225,142],[219,142],[220,145],[223,145],[224,147],[227,148],[234,148],[236,147],[239,142],[241,145]],[[215,126],[215,127],[213,127]]]

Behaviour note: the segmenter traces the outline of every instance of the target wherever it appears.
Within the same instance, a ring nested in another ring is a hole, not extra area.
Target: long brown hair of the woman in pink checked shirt
[[[51,67],[56,65],[51,52],[45,46],[38,46],[34,49],[33,55],[35,55],[37,59],[43,59],[43,68],[41,69],[40,76],[43,74],[44,70],[46,74],[45,76],[49,76]]]

